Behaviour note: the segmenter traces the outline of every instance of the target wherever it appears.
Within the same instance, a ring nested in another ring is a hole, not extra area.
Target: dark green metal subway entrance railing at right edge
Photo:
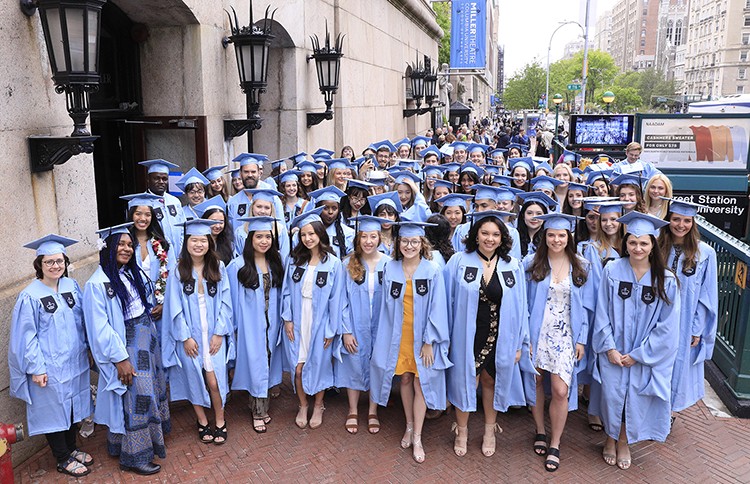
[[[713,362],[726,377],[724,384],[738,399],[750,399],[750,246],[710,224],[695,218],[701,237],[716,250],[719,287],[719,323]],[[737,284],[737,266],[744,264],[747,287]]]

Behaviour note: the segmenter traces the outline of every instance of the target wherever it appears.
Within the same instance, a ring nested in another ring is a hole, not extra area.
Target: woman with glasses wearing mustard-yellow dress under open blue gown
[[[401,376],[406,432],[401,447],[424,462],[427,408],[445,409],[448,306],[445,283],[424,238],[424,223],[400,222],[394,260],[386,264],[378,332],[370,364],[370,398],[385,406],[394,375]]]

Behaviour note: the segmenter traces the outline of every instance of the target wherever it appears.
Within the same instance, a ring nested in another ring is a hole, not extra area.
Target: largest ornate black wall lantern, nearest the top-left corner
[[[93,153],[94,141],[86,126],[89,93],[99,88],[99,38],[102,6],[106,0],[20,0],[29,17],[39,10],[44,42],[58,94],[65,93],[73,132],[67,137],[29,136],[31,171],[49,171],[72,156]]]

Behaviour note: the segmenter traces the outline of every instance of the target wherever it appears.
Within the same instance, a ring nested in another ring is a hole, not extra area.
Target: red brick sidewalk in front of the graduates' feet
[[[524,410],[500,414],[497,453],[481,454],[483,418],[469,421],[469,452],[453,453],[453,418],[443,416],[425,424],[422,440],[427,459],[412,460],[402,450],[404,430],[400,400],[381,409],[381,431],[367,433],[365,402],[360,402],[357,435],[344,429],[345,395],[329,398],[323,426],[300,430],[294,425],[297,399],[288,379],[281,397],[271,403],[273,421],[268,432],[257,434],[246,408],[246,394],[235,393],[227,406],[229,438],[223,446],[198,442],[195,417],[187,405],[173,407],[172,433],[167,437],[167,458],[156,459],[161,473],[150,478],[119,470],[106,454],[106,428],[98,426],[83,444],[96,463],[88,482],[750,482],[750,420],[714,417],[700,403],[680,414],[666,443],[642,442],[632,446],[633,465],[627,471],[610,467],[601,458],[604,434],[586,426],[580,410],[570,414],[561,446],[561,467],[547,473],[543,459],[531,450],[534,424]],[[72,482],[55,472],[48,448],[15,469],[17,483]]]

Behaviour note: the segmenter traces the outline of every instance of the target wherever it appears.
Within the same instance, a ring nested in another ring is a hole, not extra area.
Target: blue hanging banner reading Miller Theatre
[[[453,0],[451,69],[484,69],[487,64],[487,0]]]

